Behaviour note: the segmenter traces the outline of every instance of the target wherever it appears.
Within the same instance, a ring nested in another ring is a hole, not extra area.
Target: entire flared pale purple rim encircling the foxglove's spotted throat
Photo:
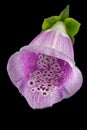
[[[72,68],[72,73],[69,79],[65,80],[62,89],[56,91],[52,96],[45,97],[38,92],[32,93],[31,88],[28,86],[29,77],[27,77],[27,74],[29,74],[30,68],[28,62],[30,61],[29,63],[32,64],[35,62],[35,56],[31,56],[32,52],[35,52],[34,54],[47,54],[65,60]],[[82,85],[82,75],[77,67],[75,67],[75,63],[68,56],[49,47],[29,45],[21,48],[19,52],[12,55],[9,59],[7,71],[13,84],[19,89],[29,105],[34,109],[46,108],[60,102],[62,99],[72,96]]]

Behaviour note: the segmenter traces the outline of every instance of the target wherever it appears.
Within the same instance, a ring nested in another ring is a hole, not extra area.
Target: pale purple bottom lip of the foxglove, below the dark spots
[[[41,93],[32,92],[27,84],[23,87],[23,89],[19,89],[21,94],[25,97],[28,104],[33,109],[42,109],[51,107],[53,104],[61,101],[63,98],[61,93],[55,92],[53,95],[43,96]]]

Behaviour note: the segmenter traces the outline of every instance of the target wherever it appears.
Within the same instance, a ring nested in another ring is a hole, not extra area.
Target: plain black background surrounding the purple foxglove
[[[20,95],[17,88],[10,81],[6,66],[8,58],[27,45],[41,31],[43,19],[59,14],[70,4],[70,16],[81,23],[81,28],[74,44],[76,65],[83,73],[84,81],[82,88],[71,98],[55,104],[51,108],[33,110],[29,107],[24,97]],[[1,6],[1,42],[0,42],[0,96],[2,117],[15,122],[29,121],[29,125],[37,122],[51,125],[73,119],[72,124],[77,124],[78,119],[83,121],[87,109],[87,7],[86,2],[79,0],[42,0],[28,2],[4,2]],[[21,117],[21,118],[20,118]],[[77,120],[77,121],[75,121]],[[22,123],[21,123],[22,125]],[[79,124],[78,124],[79,125]],[[44,128],[45,128],[44,127]],[[61,125],[62,127],[62,125]]]

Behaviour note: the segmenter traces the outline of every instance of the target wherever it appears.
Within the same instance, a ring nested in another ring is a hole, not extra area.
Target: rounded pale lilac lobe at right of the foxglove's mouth
[[[69,97],[71,97],[82,86],[82,82],[83,82],[82,73],[75,66],[72,69],[73,69],[73,71],[71,73],[71,76],[69,77],[69,79],[67,80],[67,82],[65,82],[65,84],[63,85],[63,88],[64,88],[63,92],[62,92],[63,98],[69,98]]]

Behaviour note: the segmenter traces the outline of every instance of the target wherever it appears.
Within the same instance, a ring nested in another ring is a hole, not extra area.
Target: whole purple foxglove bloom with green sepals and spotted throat
[[[73,52],[73,39],[80,24],[68,16],[69,6],[59,16],[45,19],[42,32],[8,60],[11,81],[33,109],[69,98],[82,85]]]

